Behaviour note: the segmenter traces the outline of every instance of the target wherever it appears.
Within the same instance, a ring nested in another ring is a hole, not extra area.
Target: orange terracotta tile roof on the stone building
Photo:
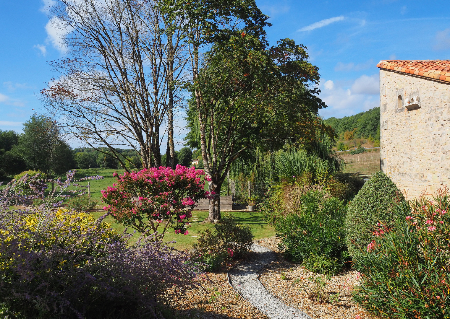
[[[385,60],[380,61],[377,67],[450,83],[450,60]]]

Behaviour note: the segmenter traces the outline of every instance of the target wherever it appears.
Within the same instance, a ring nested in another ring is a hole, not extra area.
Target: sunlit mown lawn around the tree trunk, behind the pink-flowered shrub
[[[95,218],[102,216],[104,212],[92,212]],[[222,213],[223,216],[224,213]],[[266,222],[262,221],[262,214],[259,212],[233,212],[232,213],[239,224],[248,225],[252,230],[255,239],[272,237],[275,235],[275,230],[273,226],[267,225]],[[177,249],[190,249],[192,244],[197,241],[198,232],[207,229],[208,227],[214,227],[211,223],[204,223],[205,218],[208,217],[207,211],[194,211],[192,213],[191,227],[189,227],[189,235],[175,235],[173,232],[166,233],[164,236],[164,241],[176,240],[176,243],[169,244]],[[104,219],[104,222],[111,223],[112,228],[116,229],[117,232],[123,232],[125,227],[122,224],[118,224],[111,216]],[[133,229],[128,229],[128,233],[133,234]],[[139,233],[135,233],[133,237],[130,238],[130,243],[135,243],[139,237]]]

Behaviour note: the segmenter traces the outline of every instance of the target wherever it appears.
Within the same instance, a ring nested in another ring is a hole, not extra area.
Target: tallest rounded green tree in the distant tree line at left
[[[13,151],[27,168],[43,173],[61,174],[74,165],[71,147],[61,139],[56,122],[46,115],[35,113],[23,124],[23,134]]]

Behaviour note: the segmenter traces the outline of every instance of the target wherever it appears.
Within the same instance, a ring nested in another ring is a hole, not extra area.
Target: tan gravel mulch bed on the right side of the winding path
[[[277,244],[281,240],[271,238],[256,240],[255,242],[279,252]],[[296,282],[296,279],[311,286],[312,283],[308,278],[310,276],[314,278],[315,273],[305,270],[300,265],[286,261],[281,253],[279,253],[277,260],[261,270],[260,274],[259,279],[269,292],[286,305],[302,310],[313,319],[355,319],[357,315],[361,319],[374,319],[373,316],[366,313],[351,300],[351,287],[358,283],[356,270],[344,270],[342,274],[331,276],[330,280],[325,279],[325,283],[327,283],[325,291],[329,294],[339,294],[337,301],[334,302],[311,300],[302,290],[298,281]],[[282,280],[282,275],[288,279]]]

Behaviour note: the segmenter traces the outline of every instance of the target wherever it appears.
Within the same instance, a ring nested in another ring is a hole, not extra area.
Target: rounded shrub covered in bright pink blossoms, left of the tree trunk
[[[175,234],[187,235],[192,209],[211,194],[204,190],[203,171],[177,165],[143,169],[117,176],[117,183],[102,191],[103,201],[114,219],[144,233],[158,231],[161,240],[171,226]],[[162,229],[158,228],[162,224]]]

